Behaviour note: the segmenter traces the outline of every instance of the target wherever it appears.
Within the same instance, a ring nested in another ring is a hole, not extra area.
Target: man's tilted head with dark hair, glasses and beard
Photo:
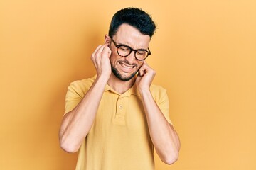
[[[151,53],[149,42],[155,30],[151,16],[139,8],[124,8],[114,14],[105,42],[112,51],[110,64],[115,77],[129,81],[137,74]]]

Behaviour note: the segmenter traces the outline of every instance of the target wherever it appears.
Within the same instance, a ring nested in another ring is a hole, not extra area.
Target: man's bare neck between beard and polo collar
[[[117,91],[119,94],[123,94],[125,91],[129,90],[135,82],[135,77],[130,79],[129,81],[122,81],[114,76],[114,74],[110,75],[110,79],[107,81],[107,84]]]

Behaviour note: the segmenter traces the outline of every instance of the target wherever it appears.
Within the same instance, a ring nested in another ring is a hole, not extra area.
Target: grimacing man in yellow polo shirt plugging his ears
[[[145,61],[155,28],[139,8],[115,13],[91,57],[97,76],[68,87],[60,146],[79,150],[76,169],[154,169],[154,149],[166,164],[178,159],[166,90]]]

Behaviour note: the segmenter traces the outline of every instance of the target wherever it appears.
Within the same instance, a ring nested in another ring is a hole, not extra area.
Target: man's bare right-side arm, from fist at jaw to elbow
[[[154,69],[144,62],[139,69],[136,84],[142,98],[149,134],[156,153],[166,164],[173,164],[178,159],[180,141],[174,127],[166,120],[160,106],[154,101],[149,91],[155,74]],[[162,103],[168,102],[168,98],[164,100]],[[164,108],[168,108],[168,104],[164,105]]]

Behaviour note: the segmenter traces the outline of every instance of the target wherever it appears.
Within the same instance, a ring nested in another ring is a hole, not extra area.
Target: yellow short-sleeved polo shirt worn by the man
[[[70,84],[65,113],[78,105],[95,79],[96,76]],[[150,90],[166,120],[171,123],[166,90],[155,85],[151,85]],[[106,85],[95,122],[79,149],[76,169],[154,169],[154,145],[135,85],[124,94],[118,94]]]

